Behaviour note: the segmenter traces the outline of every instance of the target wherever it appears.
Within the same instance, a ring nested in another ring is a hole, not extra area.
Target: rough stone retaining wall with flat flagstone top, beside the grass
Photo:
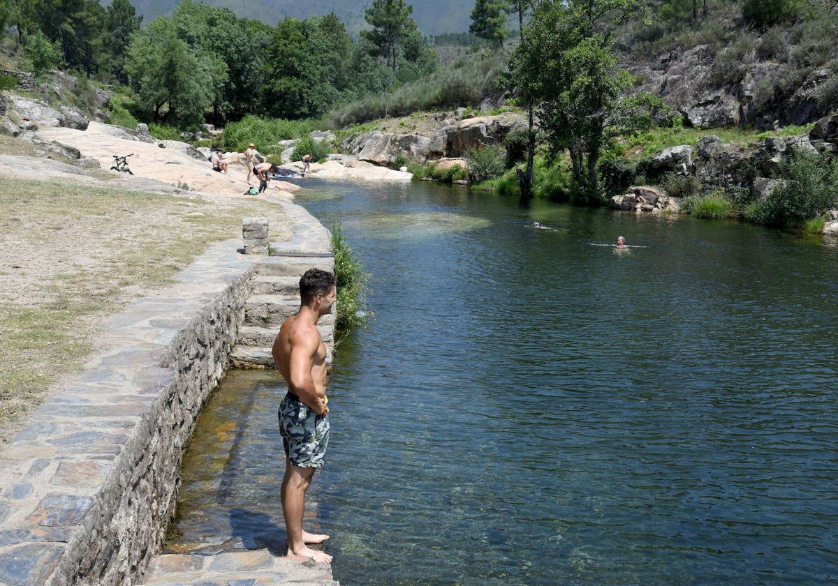
[[[132,584],[165,537],[182,450],[256,273],[225,243],[108,327],[111,352],[0,452],[0,583]]]

